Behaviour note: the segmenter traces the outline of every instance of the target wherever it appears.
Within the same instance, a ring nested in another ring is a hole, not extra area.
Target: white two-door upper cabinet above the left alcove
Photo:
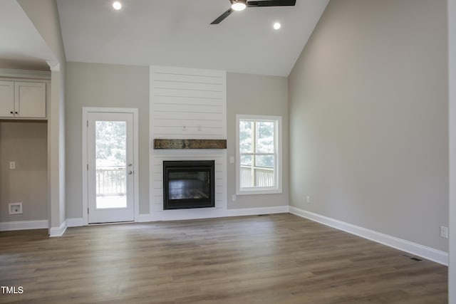
[[[0,117],[46,117],[46,83],[0,81]]]

